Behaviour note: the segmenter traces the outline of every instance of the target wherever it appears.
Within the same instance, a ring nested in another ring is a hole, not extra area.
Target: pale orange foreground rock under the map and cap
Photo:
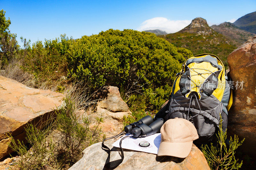
[[[110,161],[121,159],[120,148],[112,147],[114,140],[105,142],[109,148]],[[101,142],[93,144],[83,151],[83,158],[76,162],[69,170],[102,170],[108,153],[102,150]],[[210,169],[203,153],[193,144],[191,152],[186,159],[161,156],[158,157],[156,154],[137,152],[132,150],[124,149],[124,160],[116,167],[116,170],[126,169]]]

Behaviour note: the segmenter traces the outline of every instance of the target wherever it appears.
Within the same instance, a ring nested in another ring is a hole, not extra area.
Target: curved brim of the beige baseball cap
[[[158,156],[174,156],[186,158],[192,148],[193,141],[188,142],[162,142],[160,143]]]

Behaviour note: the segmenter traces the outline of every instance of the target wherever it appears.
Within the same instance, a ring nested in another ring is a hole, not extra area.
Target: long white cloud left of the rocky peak
[[[148,19],[140,25],[138,31],[159,29],[166,33],[176,33],[188,26],[192,20],[170,20],[163,17]]]

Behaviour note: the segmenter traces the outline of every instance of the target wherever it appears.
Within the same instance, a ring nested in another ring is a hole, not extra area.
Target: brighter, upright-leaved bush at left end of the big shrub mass
[[[83,36],[70,41],[68,50],[68,72],[77,81],[86,79],[91,86],[98,88],[106,84],[107,79],[116,79],[118,75],[118,58],[114,57],[112,48],[96,36]]]

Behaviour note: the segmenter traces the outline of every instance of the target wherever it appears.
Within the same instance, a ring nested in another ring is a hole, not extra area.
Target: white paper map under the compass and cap
[[[154,135],[150,135],[142,138],[134,138],[132,137],[132,134],[126,134],[123,137],[126,137],[126,136],[131,136],[131,137],[127,137],[122,141],[123,149],[130,149],[134,151],[157,154],[157,151],[161,142],[161,133],[156,133]],[[112,146],[120,148],[119,142],[123,137],[118,139],[114,144],[112,144]],[[139,144],[142,141],[147,141],[150,145],[148,147],[141,147]]]

